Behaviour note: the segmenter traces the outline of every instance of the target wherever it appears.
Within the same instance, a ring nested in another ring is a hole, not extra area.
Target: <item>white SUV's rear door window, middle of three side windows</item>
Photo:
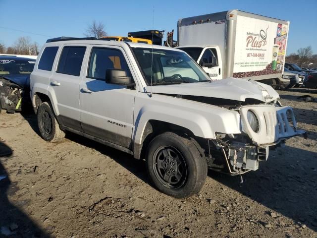
[[[85,51],[86,47],[65,46],[60,55],[57,73],[79,76]]]

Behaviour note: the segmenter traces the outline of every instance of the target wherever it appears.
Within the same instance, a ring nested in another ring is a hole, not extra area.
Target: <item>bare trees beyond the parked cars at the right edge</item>
[[[311,46],[299,48],[297,53],[292,53],[286,57],[287,63],[296,63],[300,67],[316,68],[317,55],[313,55]]]

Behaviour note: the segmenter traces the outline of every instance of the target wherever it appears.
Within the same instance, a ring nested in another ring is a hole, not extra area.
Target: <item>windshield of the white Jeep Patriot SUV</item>
[[[151,84],[151,77],[152,85],[211,81],[205,71],[183,52],[152,48],[132,49],[147,85]]]

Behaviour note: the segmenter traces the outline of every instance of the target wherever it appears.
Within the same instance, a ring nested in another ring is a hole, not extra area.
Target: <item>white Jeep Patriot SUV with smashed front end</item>
[[[305,133],[271,86],[212,81],[179,49],[55,38],[30,82],[44,140],[72,131],[145,160],[154,185],[176,198],[199,192],[208,169],[258,170],[270,146]]]

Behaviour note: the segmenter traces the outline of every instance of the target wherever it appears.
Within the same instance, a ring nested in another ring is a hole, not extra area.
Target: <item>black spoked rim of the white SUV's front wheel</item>
[[[183,155],[172,146],[160,146],[153,155],[155,176],[168,188],[179,188],[187,179],[187,164]]]

